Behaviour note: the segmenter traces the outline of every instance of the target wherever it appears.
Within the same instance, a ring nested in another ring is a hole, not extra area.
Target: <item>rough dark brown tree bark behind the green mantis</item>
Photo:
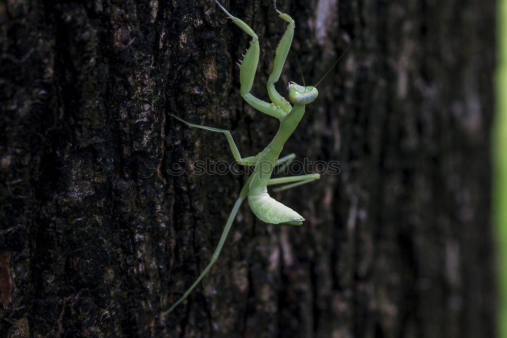
[[[285,29],[271,0],[225,2],[260,36],[252,92]],[[284,147],[339,175],[245,203],[188,300],[277,120],[247,105],[249,37],[211,0],[0,3],[0,336],[491,337],[494,3],[278,1],[315,83],[363,32]],[[280,91],[300,81],[289,54]],[[185,173],[168,170],[182,165]]]

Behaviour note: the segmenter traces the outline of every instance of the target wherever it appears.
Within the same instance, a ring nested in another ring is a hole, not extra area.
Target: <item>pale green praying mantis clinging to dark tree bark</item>
[[[246,198],[248,199],[248,204],[250,205],[250,209],[253,211],[253,213],[260,220],[266,223],[277,224],[280,226],[300,226],[303,224],[303,221],[305,220],[303,216],[269,196],[267,186],[287,183],[276,189],[278,191],[282,191],[305,183],[309,183],[320,177],[319,174],[306,174],[282,178],[271,178],[271,174],[274,168],[284,168],[295,159],[295,154],[290,154],[279,158],[283,145],[292,135],[299,122],[303,118],[306,105],[313,102],[317,98],[318,91],[316,86],[338,63],[340,58],[344,55],[344,53],[348,50],[348,48],[352,45],[357,37],[357,35],[354,37],[343,54],[338,58],[338,60],[333,64],[333,66],[331,66],[328,72],[324,74],[324,77],[322,77],[322,79],[318,81],[315,86],[300,86],[294,82],[290,82],[287,87],[287,101],[276,91],[275,83],[280,78],[285,59],[287,58],[288,51],[291,48],[294,36],[294,28],[296,25],[294,20],[288,14],[282,13],[276,8],[275,0],[274,7],[276,12],[279,14],[278,18],[287,22],[287,28],[278,44],[278,47],[276,48],[273,71],[268,78],[267,90],[269,98],[271,100],[271,103],[268,103],[250,94],[253,78],[255,77],[257,64],[259,62],[259,38],[257,34],[245,22],[230,14],[218,2],[218,0],[215,0],[215,2],[228,15],[229,19],[231,19],[235,24],[237,24],[242,30],[244,30],[248,35],[252,37],[252,40],[250,41],[250,47],[247,49],[243,60],[240,61],[241,64],[238,64],[240,66],[241,96],[252,107],[264,112],[264,114],[280,120],[280,127],[274,138],[262,152],[256,156],[241,157],[238,147],[236,146],[236,143],[234,142],[230,131],[196,125],[184,121],[175,115],[169,114],[174,119],[186,124],[191,128],[199,128],[224,134],[227,138],[227,141],[229,142],[229,146],[236,162],[244,166],[255,166],[255,169],[239,193],[239,197],[236,200],[234,207],[232,208],[231,213],[227,219],[225,228],[222,232],[222,236],[220,237],[219,244],[216,246],[216,249],[213,252],[211,261],[202,271],[199,277],[195,280],[195,282],[185,291],[183,296],[180,297],[169,310],[163,312],[162,315],[166,315],[167,313],[171,312],[178,304],[183,302],[184,299],[187,298],[187,296],[190,294],[190,292],[192,292],[192,290],[196,287],[196,285],[199,284],[201,279],[208,273],[214,262],[219,258],[222,247],[224,246],[224,242],[227,238],[227,235],[229,234],[229,231],[231,230],[234,218],[236,217],[241,203]]]

